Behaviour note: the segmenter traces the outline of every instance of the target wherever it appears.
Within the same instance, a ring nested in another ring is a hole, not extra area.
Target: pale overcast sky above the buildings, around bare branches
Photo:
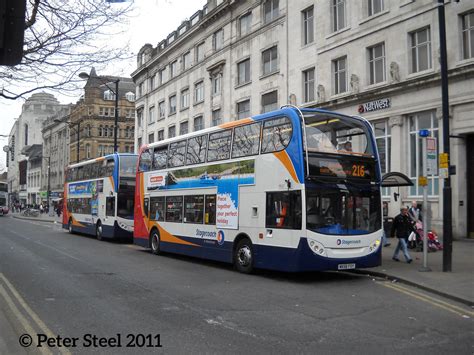
[[[72,0],[71,0],[72,1]],[[129,24],[125,31],[125,35],[121,34],[110,40],[116,42],[118,46],[125,41],[130,42],[130,49],[134,54],[138,53],[140,48],[146,43],[150,43],[153,47],[166,38],[168,34],[178,28],[178,26],[187,18],[190,18],[196,11],[202,9],[206,4],[206,0],[132,0],[136,10],[135,16],[130,18]],[[113,4],[112,6],[121,6]],[[125,38],[124,38],[125,36]],[[111,67],[101,71],[99,75],[130,75],[136,69],[136,56],[130,62],[124,62],[123,66]],[[78,92],[77,98],[70,96],[61,96],[52,92],[62,104],[75,102],[81,92]],[[28,96],[29,97],[29,96]],[[10,130],[15,122],[15,118],[20,116],[21,106],[24,100],[15,101],[0,99],[0,135],[9,135]],[[0,137],[0,149],[8,144],[8,138]],[[4,166],[5,153],[0,150],[3,158],[0,159],[0,169]]]

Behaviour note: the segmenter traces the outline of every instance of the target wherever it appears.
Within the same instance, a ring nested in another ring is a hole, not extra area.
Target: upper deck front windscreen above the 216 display
[[[305,112],[307,146],[310,152],[373,156],[368,130],[351,117]]]

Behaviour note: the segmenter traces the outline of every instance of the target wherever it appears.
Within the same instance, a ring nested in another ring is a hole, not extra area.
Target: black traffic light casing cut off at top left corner
[[[0,0],[0,65],[17,65],[23,57],[26,0]]]

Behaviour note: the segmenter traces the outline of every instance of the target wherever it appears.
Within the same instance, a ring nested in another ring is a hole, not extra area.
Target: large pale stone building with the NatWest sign
[[[474,3],[446,2],[445,10],[453,232],[474,236]],[[140,50],[135,146],[288,103],[323,107],[369,119],[383,172],[416,182],[417,132],[428,129],[442,150],[438,29],[432,0],[209,0]],[[425,206],[438,232],[442,185],[438,174],[429,178]],[[416,184],[384,189],[390,216],[421,199]]]

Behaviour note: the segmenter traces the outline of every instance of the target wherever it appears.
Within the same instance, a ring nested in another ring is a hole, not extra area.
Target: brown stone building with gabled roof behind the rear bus
[[[118,151],[134,151],[135,85],[130,78],[89,74],[84,95],[69,115],[69,157],[77,159],[79,128],[79,161],[114,152],[115,81],[119,80]]]

